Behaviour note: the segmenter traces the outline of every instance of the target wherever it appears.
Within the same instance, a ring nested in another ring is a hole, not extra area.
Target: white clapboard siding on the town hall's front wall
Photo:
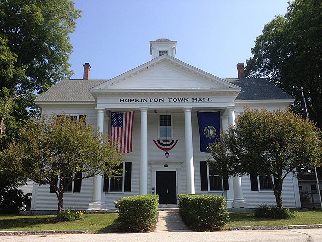
[[[263,107],[264,108],[264,107]],[[94,130],[96,129],[97,112],[95,106],[86,106],[82,108],[81,105],[66,106],[64,109],[57,106],[56,108],[43,108],[43,111],[48,113],[59,113],[65,111],[67,114],[86,114],[87,123],[93,124]],[[205,110],[203,110],[205,111]],[[211,110],[206,110],[211,111]],[[215,108],[212,111],[217,111]],[[185,166],[185,120],[184,112],[182,109],[173,110],[149,110],[148,112],[148,191],[151,193],[152,179],[155,175],[155,171],[175,170],[177,172],[177,193],[186,193],[186,166]],[[173,121],[173,137],[172,139],[178,139],[177,145],[169,151],[169,158],[165,158],[165,152],[158,149],[153,142],[153,139],[158,139],[158,122],[160,114],[171,114]],[[196,194],[216,194],[226,196],[225,191],[207,192],[201,191],[200,184],[200,161],[205,161],[207,157],[211,157],[209,153],[202,153],[199,151],[199,130],[196,110],[191,113],[192,117],[192,135],[193,135],[193,155],[194,155],[194,176],[195,176],[195,192]],[[124,196],[131,196],[139,194],[139,169],[140,169],[140,111],[135,111],[134,118],[134,131],[133,131],[133,152],[124,154],[124,160],[126,162],[132,162],[132,183],[131,192],[124,193],[106,193],[105,201],[106,208],[113,209],[114,201]],[[105,126],[108,123],[107,116],[105,117]],[[110,121],[109,121],[110,125]],[[104,131],[110,130],[108,127],[104,127]],[[168,164],[168,167],[164,167],[164,164]],[[154,171],[154,173],[153,173]],[[260,204],[275,204],[275,197],[272,192],[258,192],[251,191],[250,179],[248,176],[242,178],[243,183],[243,196],[249,207],[257,207]],[[82,180],[81,193],[64,194],[64,209],[87,209],[88,204],[92,199],[93,179],[89,178]],[[230,188],[232,189],[232,188]],[[283,202],[285,207],[296,207],[297,191],[294,187],[293,177],[290,175],[284,181],[283,185]],[[57,197],[54,193],[49,193],[49,186],[35,185],[33,190],[32,210],[56,210],[57,209]]]

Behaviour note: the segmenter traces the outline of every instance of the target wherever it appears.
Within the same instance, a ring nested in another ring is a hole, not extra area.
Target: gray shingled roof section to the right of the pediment
[[[226,78],[223,80],[243,88],[236,100],[294,99],[264,78]]]

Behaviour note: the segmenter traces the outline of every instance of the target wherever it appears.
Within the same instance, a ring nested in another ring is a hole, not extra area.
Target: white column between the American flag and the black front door
[[[147,111],[141,111],[141,161],[140,161],[140,194],[147,194]]]

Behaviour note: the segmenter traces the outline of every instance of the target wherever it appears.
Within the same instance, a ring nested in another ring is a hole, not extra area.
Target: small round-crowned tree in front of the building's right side
[[[312,169],[322,158],[320,132],[313,123],[291,111],[249,110],[235,126],[223,132],[221,142],[209,147],[214,165],[222,176],[267,176],[277,207],[282,207],[285,177],[296,168]]]

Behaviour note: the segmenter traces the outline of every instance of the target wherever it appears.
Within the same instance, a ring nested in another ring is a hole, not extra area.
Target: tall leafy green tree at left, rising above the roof
[[[36,95],[71,76],[69,34],[80,13],[69,0],[0,1],[0,151],[30,117],[40,116]],[[9,187],[20,175],[0,171]]]

